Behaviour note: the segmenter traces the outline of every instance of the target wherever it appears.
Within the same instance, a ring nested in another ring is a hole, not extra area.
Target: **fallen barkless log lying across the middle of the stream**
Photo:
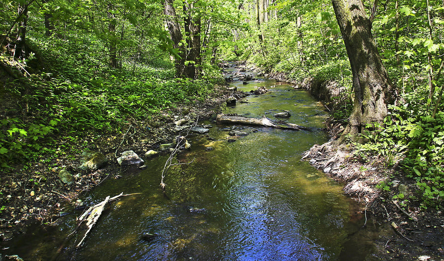
[[[228,123],[228,124],[245,124],[254,126],[264,126],[277,129],[290,129],[290,130],[311,130],[308,127],[299,126],[293,123],[283,123],[285,126],[274,124],[269,118],[263,116],[262,118],[248,118],[240,116],[226,116],[219,114],[216,118],[218,123]]]

